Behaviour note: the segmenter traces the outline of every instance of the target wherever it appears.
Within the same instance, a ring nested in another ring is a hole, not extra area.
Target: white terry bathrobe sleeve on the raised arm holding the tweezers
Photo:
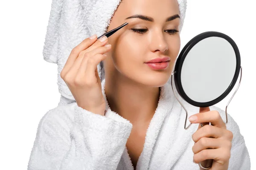
[[[131,128],[109,110],[101,116],[76,103],[58,106],[39,122],[28,170],[115,170]]]

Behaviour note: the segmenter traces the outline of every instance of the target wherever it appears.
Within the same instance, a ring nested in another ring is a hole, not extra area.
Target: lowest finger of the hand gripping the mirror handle
[[[215,161],[218,161],[218,163],[224,163],[230,159],[230,150],[223,147],[218,149],[204,149],[199,153],[194,154],[193,159],[195,163],[199,163],[207,159],[214,159]]]

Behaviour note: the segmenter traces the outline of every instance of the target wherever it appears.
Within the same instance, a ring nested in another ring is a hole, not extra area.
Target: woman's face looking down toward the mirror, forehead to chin
[[[112,49],[104,61],[106,78],[127,77],[150,87],[166,84],[180,50],[180,33],[175,31],[180,31],[180,18],[166,19],[176,14],[180,15],[177,0],[122,0],[107,31],[125,22],[128,25],[108,38]],[[126,19],[133,15],[153,21]],[[145,63],[158,57],[169,57],[168,67],[155,69]]]

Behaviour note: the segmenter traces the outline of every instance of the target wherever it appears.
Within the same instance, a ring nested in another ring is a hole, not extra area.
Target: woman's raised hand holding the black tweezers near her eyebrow
[[[92,36],[93,37],[93,36]],[[102,37],[97,40],[86,38],[70,53],[61,78],[67,84],[79,107],[102,116],[105,115],[105,99],[97,65],[106,59],[105,53],[111,50],[106,46],[108,39]],[[103,42],[101,41],[103,40]]]

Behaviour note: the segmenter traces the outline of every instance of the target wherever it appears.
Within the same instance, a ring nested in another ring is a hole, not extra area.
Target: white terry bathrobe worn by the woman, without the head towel
[[[104,88],[105,79],[102,93],[106,100]],[[105,116],[101,116],[61,96],[58,107],[49,110],[38,125],[28,170],[134,170],[126,148],[132,124],[111,111],[107,100],[106,103]],[[197,107],[184,105],[190,115],[199,112]],[[225,111],[216,106],[210,110],[219,111],[225,120]],[[192,135],[198,124],[185,130],[185,118],[186,112],[166,83],[161,87],[136,170],[200,169],[193,162],[192,152]],[[229,114],[228,121],[227,130],[234,136],[228,170],[250,170],[244,137]]]

